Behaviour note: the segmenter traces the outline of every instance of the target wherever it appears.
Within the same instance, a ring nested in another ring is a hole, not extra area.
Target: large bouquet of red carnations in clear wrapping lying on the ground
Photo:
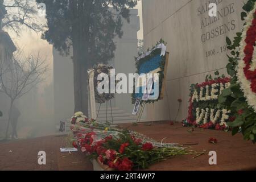
[[[76,115],[76,114],[75,114]],[[96,121],[72,123],[72,143],[101,164],[119,171],[145,169],[176,155],[197,154],[174,143],[160,143],[135,131]]]

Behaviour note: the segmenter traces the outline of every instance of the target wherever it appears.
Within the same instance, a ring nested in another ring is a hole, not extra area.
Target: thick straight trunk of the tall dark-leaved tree
[[[72,46],[74,71],[75,112],[82,111],[88,116],[88,17],[85,1],[71,1],[72,8]]]

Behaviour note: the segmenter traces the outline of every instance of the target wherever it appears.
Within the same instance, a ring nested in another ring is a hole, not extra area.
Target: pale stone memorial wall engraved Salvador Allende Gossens
[[[191,84],[205,81],[206,75],[226,73],[228,53],[226,36],[233,38],[242,31],[243,1],[217,0],[217,16],[209,16],[205,0],[143,0],[144,51],[161,38],[167,42],[170,59],[167,71],[167,94],[164,100],[148,105],[147,119],[177,121],[188,114]],[[168,107],[169,102],[170,107]],[[171,113],[169,118],[168,113]]]

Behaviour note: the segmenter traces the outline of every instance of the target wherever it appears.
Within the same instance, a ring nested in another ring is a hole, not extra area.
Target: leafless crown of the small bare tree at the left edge
[[[45,80],[47,72],[46,59],[29,56],[22,59],[22,52],[18,51],[13,60],[0,61],[1,92],[5,93],[11,100],[16,100],[30,92],[32,88]]]

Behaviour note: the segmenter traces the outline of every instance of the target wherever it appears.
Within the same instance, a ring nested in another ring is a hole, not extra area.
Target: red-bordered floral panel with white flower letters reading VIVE
[[[230,87],[230,78],[217,78],[191,86],[187,121],[203,129],[227,129],[230,110],[218,105],[222,90]]]

